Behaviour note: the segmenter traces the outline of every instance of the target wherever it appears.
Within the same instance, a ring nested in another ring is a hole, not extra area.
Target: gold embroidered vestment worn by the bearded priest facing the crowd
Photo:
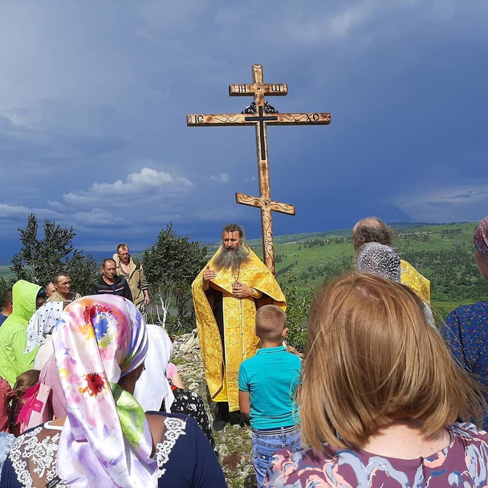
[[[205,293],[203,290],[205,268],[192,284],[198,338],[208,390],[212,400],[228,402],[230,411],[239,409],[237,381],[240,363],[254,356],[259,342],[254,333],[256,304],[258,308],[265,304],[274,304],[286,310],[286,299],[275,277],[246,244],[241,246],[249,252],[249,259],[242,263],[239,271],[235,273],[230,268],[216,270],[217,277],[210,281],[209,288],[222,292],[225,363],[219,328],[212,312],[214,294]],[[217,253],[208,262],[210,269],[216,269],[214,260]],[[232,284],[236,279],[262,292],[261,298],[255,300],[253,297],[235,297],[232,294]]]

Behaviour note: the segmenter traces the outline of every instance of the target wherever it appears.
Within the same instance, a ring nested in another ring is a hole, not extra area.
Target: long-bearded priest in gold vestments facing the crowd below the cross
[[[229,411],[239,409],[240,363],[253,356],[256,310],[265,304],[286,309],[280,285],[244,243],[237,224],[222,231],[222,246],[192,284],[198,338],[211,399],[217,402],[214,429],[222,430]]]

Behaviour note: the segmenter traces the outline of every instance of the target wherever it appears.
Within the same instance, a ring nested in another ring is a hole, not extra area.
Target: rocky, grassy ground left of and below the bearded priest
[[[211,423],[213,417],[196,329],[175,339],[172,362],[177,365],[185,387],[198,392],[205,401]],[[230,488],[256,488],[251,428],[248,425],[239,424],[238,421],[238,417],[231,417],[231,422],[225,426],[224,430],[214,431],[219,461]]]

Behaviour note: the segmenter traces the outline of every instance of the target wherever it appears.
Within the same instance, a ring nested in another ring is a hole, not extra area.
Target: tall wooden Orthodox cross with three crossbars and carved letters
[[[264,96],[283,96],[288,93],[286,83],[263,83],[263,67],[253,65],[252,84],[229,85],[231,97],[254,96],[254,102],[242,113],[189,114],[187,126],[255,126],[256,150],[258,156],[259,197],[243,193],[235,194],[235,201],[244,205],[261,208],[263,233],[263,258],[268,269],[275,273],[275,243],[271,212],[295,215],[295,207],[287,203],[271,200],[268,168],[268,146],[266,126],[330,124],[330,113],[279,113],[265,102]]]

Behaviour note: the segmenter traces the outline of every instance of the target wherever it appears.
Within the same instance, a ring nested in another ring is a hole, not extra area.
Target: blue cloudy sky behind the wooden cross
[[[223,224],[260,235],[252,127],[187,128],[240,112],[229,83],[287,83],[270,127],[276,234],[488,214],[485,0],[0,1],[0,262],[35,212],[107,251],[174,221],[204,242]]]

